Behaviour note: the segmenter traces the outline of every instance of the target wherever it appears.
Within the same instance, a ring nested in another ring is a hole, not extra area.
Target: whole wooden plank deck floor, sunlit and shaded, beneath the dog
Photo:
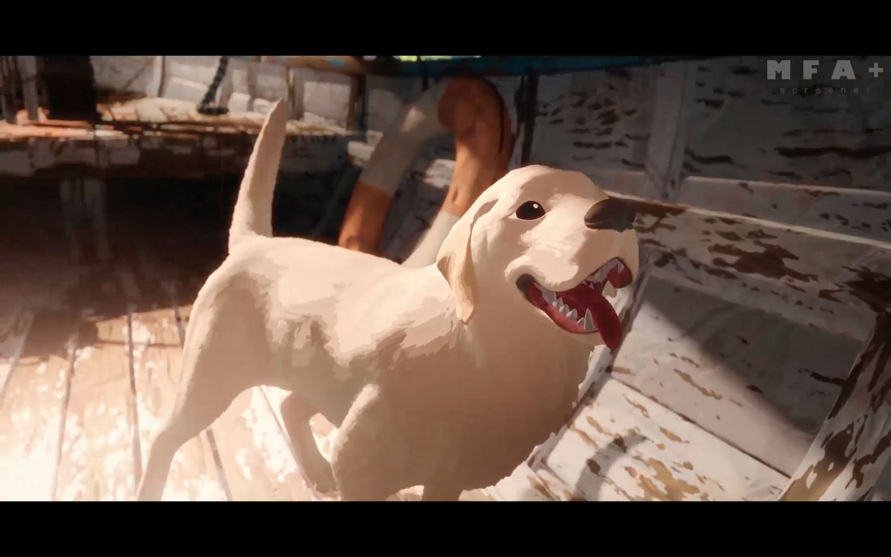
[[[131,500],[173,403],[192,300],[223,257],[225,203],[110,207],[115,261],[74,267],[55,199],[34,192],[0,224],[0,500]],[[164,499],[318,500],[282,428],[285,394],[242,393],[177,453]],[[329,455],[336,430],[312,426]]]

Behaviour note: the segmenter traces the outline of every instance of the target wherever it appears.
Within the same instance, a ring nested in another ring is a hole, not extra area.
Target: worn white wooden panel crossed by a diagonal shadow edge
[[[859,346],[653,278],[612,376],[791,475]]]

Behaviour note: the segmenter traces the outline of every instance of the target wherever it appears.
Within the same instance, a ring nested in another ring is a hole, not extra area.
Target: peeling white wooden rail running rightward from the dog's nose
[[[838,303],[891,306],[891,244],[619,197],[638,212],[634,228],[641,244],[668,258],[683,256],[717,273],[754,275]],[[813,256],[817,253],[821,257]]]

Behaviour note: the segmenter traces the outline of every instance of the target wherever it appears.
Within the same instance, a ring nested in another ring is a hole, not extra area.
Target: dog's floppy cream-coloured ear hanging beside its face
[[[462,324],[470,321],[477,304],[477,274],[473,271],[473,258],[470,257],[470,234],[473,233],[478,218],[489,212],[498,201],[489,199],[491,196],[486,193],[480,195],[454,224],[437,254],[437,268],[452,287],[455,311]]]

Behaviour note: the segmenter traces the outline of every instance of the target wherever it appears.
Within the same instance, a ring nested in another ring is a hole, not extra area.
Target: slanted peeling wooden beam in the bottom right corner
[[[891,315],[870,340],[781,501],[867,501],[891,457]]]

